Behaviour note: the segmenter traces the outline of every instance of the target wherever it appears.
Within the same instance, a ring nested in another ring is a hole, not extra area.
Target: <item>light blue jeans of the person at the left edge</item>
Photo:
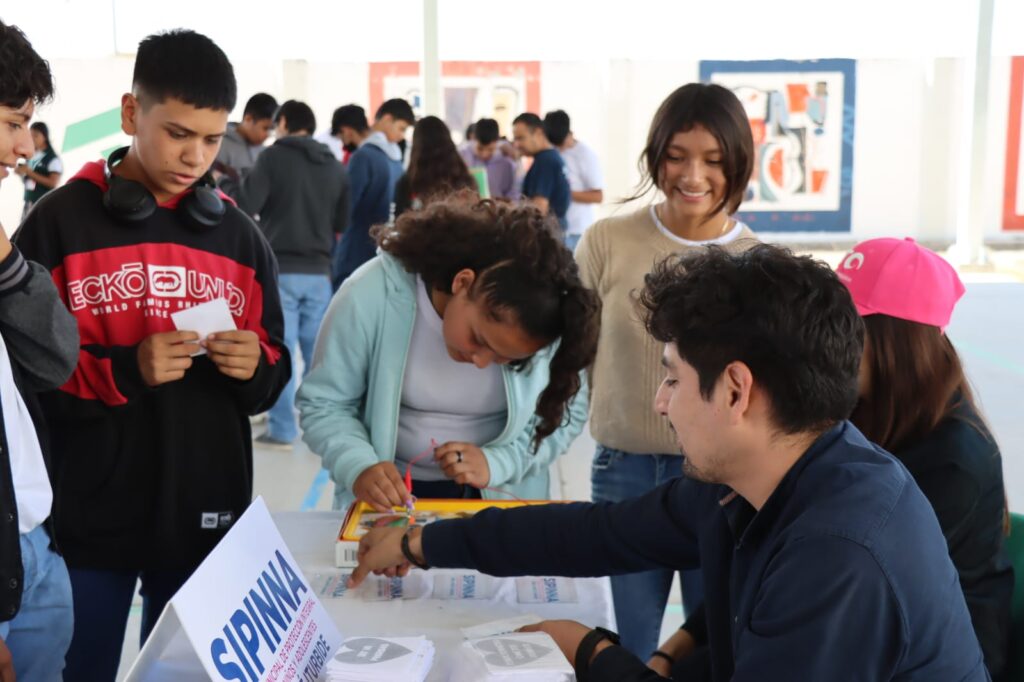
[[[43,526],[22,536],[22,608],[0,623],[18,680],[60,682],[73,628],[71,582]]]

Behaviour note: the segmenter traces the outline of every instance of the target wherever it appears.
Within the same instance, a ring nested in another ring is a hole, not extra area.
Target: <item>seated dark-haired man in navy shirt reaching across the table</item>
[[[617,504],[485,510],[367,535],[368,571],[700,567],[713,679],[987,680],[928,500],[847,417],[863,327],[824,264],[761,245],[672,257],[641,295],[684,478]],[[581,681],[662,679],[603,631],[551,621]]]

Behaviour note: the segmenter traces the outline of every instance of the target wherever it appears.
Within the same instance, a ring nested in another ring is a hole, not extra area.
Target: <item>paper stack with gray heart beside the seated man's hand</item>
[[[452,682],[571,682],[572,666],[543,632],[480,637],[462,643]]]

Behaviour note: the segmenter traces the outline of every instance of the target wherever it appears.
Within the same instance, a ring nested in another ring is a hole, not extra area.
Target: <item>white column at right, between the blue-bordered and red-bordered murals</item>
[[[949,256],[957,264],[983,265],[985,253],[985,146],[988,136],[988,81],[992,60],[992,15],[995,0],[979,0],[974,53],[964,70],[965,139],[961,145],[956,190],[956,243]],[[969,131],[969,133],[967,132]]]

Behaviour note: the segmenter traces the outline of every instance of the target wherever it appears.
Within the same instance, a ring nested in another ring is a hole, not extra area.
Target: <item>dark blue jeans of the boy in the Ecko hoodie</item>
[[[164,606],[191,574],[174,569],[72,568],[69,572],[75,594],[75,636],[68,650],[65,682],[114,682],[136,582],[142,581],[142,646]]]

